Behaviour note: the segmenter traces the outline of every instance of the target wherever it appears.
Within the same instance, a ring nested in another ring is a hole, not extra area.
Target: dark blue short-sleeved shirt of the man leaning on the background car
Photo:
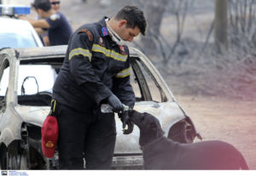
[[[48,29],[50,46],[67,44],[69,37],[72,35],[72,27],[69,25],[66,17],[57,12],[45,20],[50,26]]]

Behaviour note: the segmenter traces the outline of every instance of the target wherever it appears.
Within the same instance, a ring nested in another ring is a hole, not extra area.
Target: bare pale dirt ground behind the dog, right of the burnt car
[[[176,95],[176,99],[203,140],[218,139],[234,145],[245,156],[248,167],[256,169],[256,101],[183,95]]]

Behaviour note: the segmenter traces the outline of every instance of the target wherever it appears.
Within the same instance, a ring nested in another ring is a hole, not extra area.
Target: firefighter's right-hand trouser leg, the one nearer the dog
[[[116,139],[114,115],[98,112],[94,118],[84,148],[86,169],[110,169]]]

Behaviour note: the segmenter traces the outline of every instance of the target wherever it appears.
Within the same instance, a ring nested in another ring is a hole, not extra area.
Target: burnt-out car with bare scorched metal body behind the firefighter
[[[55,156],[44,157],[41,127],[49,114],[52,87],[61,68],[67,46],[46,48],[5,48],[0,51],[0,166],[1,169],[57,169]],[[166,82],[148,58],[130,48],[131,85],[136,94],[135,110],[160,120],[166,137],[192,143],[200,136]],[[142,167],[138,145],[139,129],[122,132],[116,118],[117,140],[113,168]]]

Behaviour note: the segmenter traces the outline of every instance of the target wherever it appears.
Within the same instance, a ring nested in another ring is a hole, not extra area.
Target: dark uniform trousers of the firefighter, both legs
[[[60,169],[110,169],[116,139],[113,113],[81,112],[58,103]]]

